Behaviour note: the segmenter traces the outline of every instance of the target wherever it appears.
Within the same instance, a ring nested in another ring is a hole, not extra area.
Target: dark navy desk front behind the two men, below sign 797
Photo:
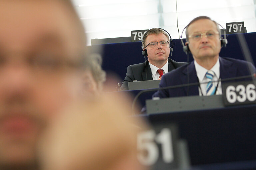
[[[245,60],[237,35],[238,34],[227,35],[228,44],[226,47],[221,49],[220,56]],[[256,40],[256,33],[240,33],[240,35],[244,36],[248,48],[251,52],[253,62],[255,63],[256,48],[254,45]],[[182,40],[185,42],[185,39]],[[181,39],[174,39],[173,43],[172,56],[169,56],[169,58],[177,62],[191,62],[193,60],[191,54],[189,54],[188,58],[187,55],[183,52]],[[125,78],[127,66],[145,62],[145,58],[141,54],[141,42],[92,45],[91,48],[92,51],[97,52],[100,51],[99,49],[102,49],[102,68],[108,74],[117,75],[117,77],[120,78],[119,83],[122,83],[122,80]]]

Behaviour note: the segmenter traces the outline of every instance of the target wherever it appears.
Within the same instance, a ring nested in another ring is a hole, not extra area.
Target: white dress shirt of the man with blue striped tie
[[[199,95],[200,96],[206,96],[206,86],[207,86],[207,78],[205,77],[205,74],[207,73],[206,68],[202,67],[201,65],[199,65],[195,60],[194,60],[194,64],[195,64],[195,68],[196,68],[196,75],[198,77],[199,83],[200,83],[200,87],[198,86],[199,89]],[[211,70],[215,73],[215,75],[213,76],[212,81],[218,81],[218,82],[213,82],[213,85],[215,85],[215,87],[218,86],[217,91],[216,91],[216,95],[218,94],[222,94],[222,88],[221,88],[221,81],[220,81],[220,60],[218,59],[216,64],[211,68]]]

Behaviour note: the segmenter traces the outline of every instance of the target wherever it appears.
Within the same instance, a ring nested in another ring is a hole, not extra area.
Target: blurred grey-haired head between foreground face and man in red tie
[[[86,71],[84,73],[84,91],[96,94],[103,89],[106,73],[101,68],[102,59],[99,54],[88,56]]]

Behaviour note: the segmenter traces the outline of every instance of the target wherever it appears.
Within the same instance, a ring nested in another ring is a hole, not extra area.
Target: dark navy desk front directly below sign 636
[[[255,111],[256,105],[252,104],[141,117],[153,126],[168,122],[176,123],[180,138],[188,142],[193,167],[256,169]]]

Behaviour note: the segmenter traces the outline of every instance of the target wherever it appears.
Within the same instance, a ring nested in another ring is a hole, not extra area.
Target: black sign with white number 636
[[[223,83],[224,105],[240,105],[256,103],[255,85],[252,81]]]

